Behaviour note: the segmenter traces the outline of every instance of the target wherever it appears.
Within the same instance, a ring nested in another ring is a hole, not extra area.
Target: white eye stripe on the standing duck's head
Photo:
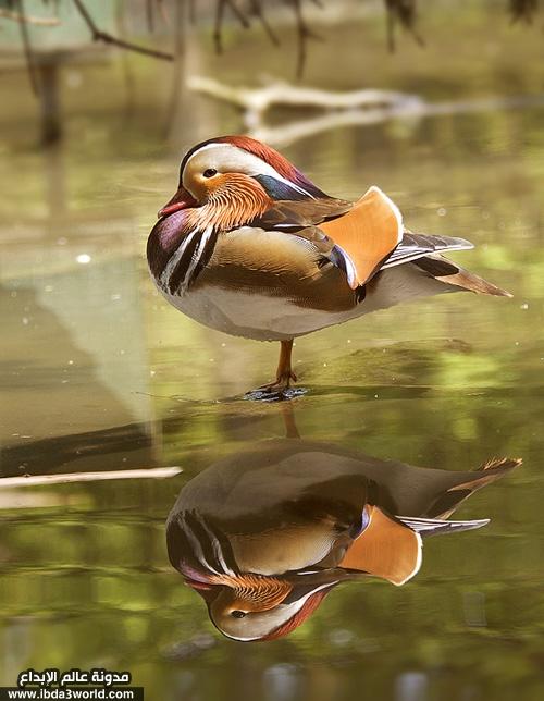
[[[206,155],[209,158],[202,158],[202,155]],[[254,156],[254,153],[249,153],[248,151],[231,144],[207,144],[191,153],[190,158],[185,163],[185,168],[182,173],[184,187],[190,192],[190,183],[188,181],[191,175],[198,174],[199,171],[200,174],[202,174],[210,168],[215,169],[220,173],[245,173],[246,175],[251,176],[270,175],[284,185],[292,187],[300,195],[316,199],[316,197],[304,187],[300,187],[300,185],[297,185],[281,175],[275,168],[270,165],[270,163],[267,163],[258,156]]]

